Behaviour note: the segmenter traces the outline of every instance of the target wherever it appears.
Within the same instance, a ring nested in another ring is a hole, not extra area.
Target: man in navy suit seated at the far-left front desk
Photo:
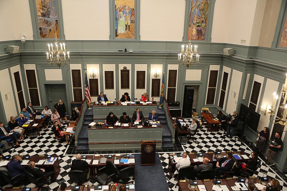
[[[24,174],[26,169],[20,163],[21,158],[18,155],[13,155],[11,157],[11,161],[8,163],[8,175],[11,178],[19,174],[21,174],[22,178],[26,177]],[[20,177],[17,177],[16,179],[19,180]]]

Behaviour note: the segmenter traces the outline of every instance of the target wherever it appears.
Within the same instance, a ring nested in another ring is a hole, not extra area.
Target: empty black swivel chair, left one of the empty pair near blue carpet
[[[99,185],[106,185],[114,181],[118,173],[115,164],[112,161],[107,161],[106,166],[99,169],[96,181]]]

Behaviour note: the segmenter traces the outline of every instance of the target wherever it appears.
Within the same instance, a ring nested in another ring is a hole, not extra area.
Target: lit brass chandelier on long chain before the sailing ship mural
[[[60,48],[58,46],[57,41],[57,31],[56,31],[56,21],[55,21],[55,13],[54,13],[54,1],[53,4],[53,14],[54,14],[54,25],[55,25],[55,49],[53,48],[53,44],[48,44],[49,52],[47,52],[46,61],[48,64],[57,66],[60,68],[61,65],[69,64],[70,63],[70,52],[66,51],[65,43],[60,43]],[[51,46],[51,48],[50,48]]]

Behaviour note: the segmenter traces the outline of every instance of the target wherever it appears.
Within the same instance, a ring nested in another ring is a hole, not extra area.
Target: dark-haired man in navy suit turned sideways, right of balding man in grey
[[[227,153],[226,157],[220,158],[216,163],[216,168],[214,169],[215,175],[224,175],[226,172],[230,172],[234,164],[232,153]],[[221,163],[219,165],[219,163]]]

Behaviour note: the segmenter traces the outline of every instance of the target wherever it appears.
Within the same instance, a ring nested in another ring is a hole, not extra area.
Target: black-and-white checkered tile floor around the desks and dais
[[[67,127],[66,123],[63,123],[65,127]],[[230,140],[229,138],[225,138],[222,136],[223,131],[218,132],[207,132],[207,128],[202,125],[202,129],[199,129],[196,135],[194,136],[196,138],[197,143],[193,143],[188,141],[186,145],[182,146],[182,149],[186,152],[200,152],[200,153],[206,153],[208,151],[217,151],[217,150],[242,150],[246,153],[251,153],[251,149],[247,147],[244,143],[240,145],[240,141],[234,138]],[[66,142],[63,142],[61,144],[58,144],[58,142],[54,138],[54,133],[51,131],[51,127],[46,129],[40,130],[40,136],[36,138],[28,138],[25,137],[24,141],[20,142],[19,146],[14,146],[14,149],[12,153],[3,153],[4,156],[6,155],[41,155],[41,154],[56,154],[59,156],[59,163],[60,163],[60,174],[57,178],[57,181],[49,184],[44,185],[47,187],[47,190],[54,190],[56,191],[59,185],[63,182],[65,182],[68,186],[71,184],[74,185],[72,182],[69,181],[68,172],[70,171],[69,164],[71,162],[71,158],[73,155],[67,155],[67,150],[71,150],[73,148],[69,148],[69,146],[66,144]],[[174,152],[171,152],[174,153]],[[73,153],[76,154],[76,153]],[[168,152],[159,153],[161,164],[163,168],[164,175],[167,180],[167,184],[169,187],[169,190],[177,191],[178,187],[175,188],[176,181],[174,178],[170,177],[168,175]],[[276,172],[275,172],[276,171]],[[280,174],[280,175],[278,175]],[[272,166],[269,167],[265,164],[265,161],[262,161],[262,166],[260,169],[257,170],[257,172],[254,174],[254,176],[269,176],[271,178],[276,178],[280,181],[280,184],[283,186],[283,191],[287,191],[287,183],[284,181],[286,180],[286,176],[281,172],[278,171],[276,167]],[[282,178],[281,178],[282,177]],[[134,178],[132,178],[134,180]],[[94,179],[91,179],[87,184],[94,184],[97,185],[97,182]],[[11,185],[7,185],[11,186]],[[25,185],[27,187],[34,187],[33,184]]]

